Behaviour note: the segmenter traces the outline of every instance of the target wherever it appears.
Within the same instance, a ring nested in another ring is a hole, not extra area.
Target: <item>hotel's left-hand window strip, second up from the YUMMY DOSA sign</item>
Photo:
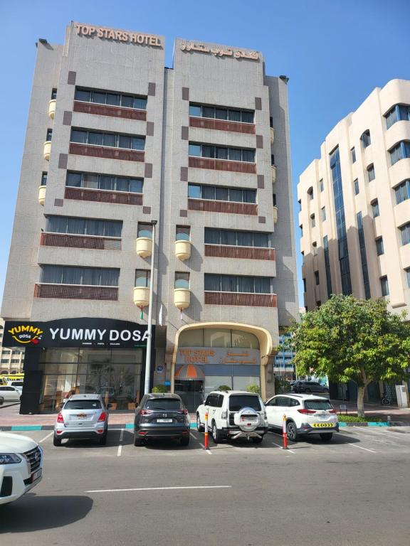
[[[48,216],[46,231],[49,233],[70,233],[72,235],[93,235],[99,237],[121,237],[122,222],[115,220],[93,220],[71,218],[70,216]]]

